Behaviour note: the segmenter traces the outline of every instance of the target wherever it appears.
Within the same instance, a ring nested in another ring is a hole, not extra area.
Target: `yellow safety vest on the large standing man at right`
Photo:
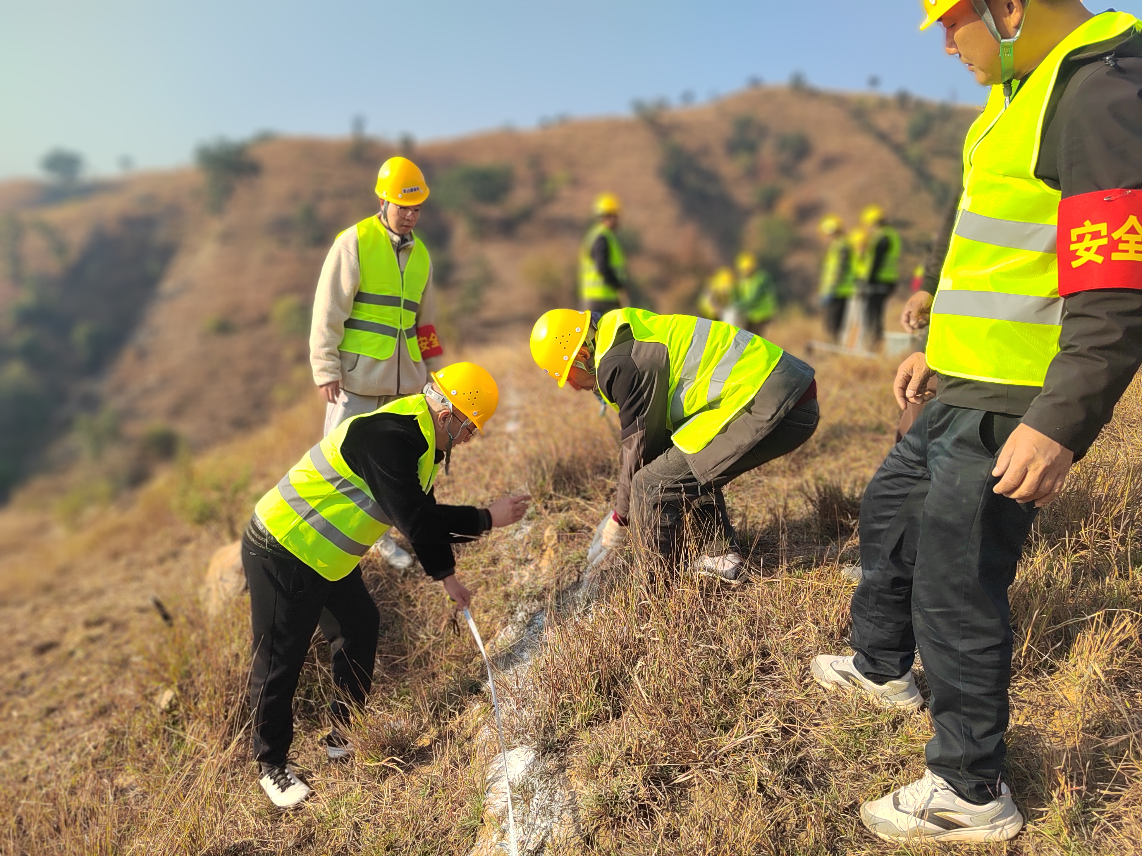
[[[1140,29],[1103,13],[1055,47],[1004,106],[992,87],[964,144],[964,195],[932,305],[928,364],[942,374],[1043,386],[1059,353],[1061,193],[1035,176],[1051,94],[1071,54]]]

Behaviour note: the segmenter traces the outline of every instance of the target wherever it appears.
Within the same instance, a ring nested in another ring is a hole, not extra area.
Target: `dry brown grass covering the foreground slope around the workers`
[[[809,326],[790,320],[775,338],[795,345]],[[502,646],[521,615],[576,579],[610,500],[616,441],[592,398],[542,383],[517,352],[481,360],[501,378],[504,410],[457,452],[440,492],[537,498],[523,526],[460,558],[485,638]],[[611,568],[593,608],[552,624],[532,683],[505,684],[509,741],[568,770],[582,834],[565,851],[891,849],[864,832],[856,807],[919,774],[927,718],[826,698],[807,677],[812,654],[845,649],[851,589],[836,570],[855,558],[852,503],[891,443],[891,365],[814,362],[818,435],[727,491],[761,564],[750,581],[726,590],[638,560]],[[203,501],[249,473],[239,491],[248,509],[312,442],[316,417],[299,405],[196,460]],[[980,853],[1128,853],[1142,835],[1140,446],[1133,387],[1028,547],[1012,589],[1010,743],[1029,826]],[[321,761],[328,649],[315,643],[295,749],[317,794],[279,815],[249,760],[246,603],[211,621],[198,601],[204,560],[232,524],[224,511],[202,525],[172,511],[185,478],[172,468],[70,534],[21,540],[21,527],[50,528],[48,518],[0,515],[0,619],[14,628],[0,643],[10,687],[0,696],[0,853],[466,853],[494,741],[481,664],[439,588],[369,565],[383,629],[360,756]],[[161,710],[166,688],[176,695]]]

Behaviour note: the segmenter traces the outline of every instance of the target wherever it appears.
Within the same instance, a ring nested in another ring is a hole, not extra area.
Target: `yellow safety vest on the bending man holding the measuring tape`
[[[352,573],[369,548],[393,525],[380,510],[369,485],[341,457],[349,426],[377,413],[416,417],[428,443],[417,462],[420,487],[427,494],[440,469],[436,433],[424,395],[410,395],[372,413],[346,419],[311,449],[255,507],[278,543],[327,580]]]

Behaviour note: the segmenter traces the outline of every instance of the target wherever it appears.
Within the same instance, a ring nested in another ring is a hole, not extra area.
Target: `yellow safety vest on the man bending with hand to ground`
[[[773,342],[721,321],[628,308],[609,312],[598,322],[595,365],[603,361],[622,325],[629,326],[638,341],[666,346],[670,362],[667,427],[674,445],[687,454],[705,449],[754,399],[785,353]],[[606,403],[618,410],[614,402]]]

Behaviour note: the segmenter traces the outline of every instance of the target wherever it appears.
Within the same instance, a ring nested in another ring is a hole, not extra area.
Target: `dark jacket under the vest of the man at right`
[[[1142,187],[1142,37],[1065,60],[1051,100],[1036,176],[1064,199]],[[925,272],[924,289],[932,293],[954,225],[952,212]],[[1023,417],[1024,423],[1084,454],[1142,363],[1142,272],[1136,289],[1067,297],[1059,345],[1042,388],[941,375],[938,397],[955,406]]]

